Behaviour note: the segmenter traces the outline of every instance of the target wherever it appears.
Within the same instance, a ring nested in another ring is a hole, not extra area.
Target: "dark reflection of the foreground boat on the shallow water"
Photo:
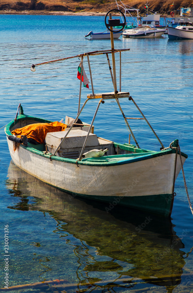
[[[148,284],[171,290],[180,284],[185,265],[180,249],[184,246],[169,218],[118,206],[112,208],[113,204],[111,210],[109,206],[106,209],[104,203],[73,197],[49,186],[16,167],[12,161],[8,177],[9,193],[20,198],[20,202],[9,208],[48,212],[58,223],[67,223],[60,226],[60,234],[71,234],[70,239],[66,236],[66,245],[70,244],[72,235],[80,239],[77,246],[73,243],[80,280],[74,292],[80,288],[91,292],[94,287],[113,288],[113,292],[130,288],[135,292],[139,285],[147,287]],[[34,205],[28,204],[28,196],[37,198]],[[100,258],[96,260],[96,256]]]

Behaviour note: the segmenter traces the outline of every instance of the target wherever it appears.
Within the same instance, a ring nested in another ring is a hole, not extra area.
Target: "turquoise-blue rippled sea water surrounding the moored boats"
[[[0,24],[0,127],[15,117],[19,103],[29,115],[53,121],[65,115],[74,117],[80,60],[42,65],[35,72],[30,67],[110,48],[109,40],[84,39],[90,30],[105,30],[104,17],[1,15]],[[181,150],[188,154],[184,170],[193,202],[193,40],[169,41],[167,35],[138,40],[120,37],[115,48],[130,48],[122,53],[121,90],[130,92],[165,147],[178,138]],[[112,91],[106,57],[90,57],[90,63],[95,92]],[[86,59],[84,64],[88,73]],[[82,88],[82,103],[87,93],[91,90]],[[130,101],[121,101],[121,105],[127,117],[140,117]],[[91,122],[96,107],[95,101],[87,105],[82,120]],[[110,101],[100,106],[95,133],[124,143],[128,132],[117,110]],[[140,147],[159,149],[144,121],[134,120],[130,125]],[[58,289],[37,287],[13,292],[193,290],[189,253],[193,216],[181,172],[175,184],[171,220],[122,207],[114,207],[107,214],[105,204],[67,195],[18,169],[11,162],[4,129],[0,135],[1,287],[5,276],[3,231],[8,224],[9,286],[63,280],[59,285],[54,282]],[[149,222],[144,226],[146,217]],[[139,232],[141,225],[144,228]]]

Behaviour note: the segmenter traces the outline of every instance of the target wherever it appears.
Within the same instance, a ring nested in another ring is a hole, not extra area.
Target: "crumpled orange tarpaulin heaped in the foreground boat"
[[[16,136],[25,135],[27,138],[34,139],[36,142],[43,144],[48,132],[63,131],[66,127],[66,124],[60,123],[58,121],[51,123],[34,123],[22,128],[17,128],[13,130],[11,134]]]

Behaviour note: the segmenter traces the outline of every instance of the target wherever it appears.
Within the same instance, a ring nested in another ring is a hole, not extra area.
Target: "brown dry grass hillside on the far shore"
[[[146,0],[123,1],[124,4],[139,8],[140,13],[145,13],[143,6]],[[164,14],[177,10],[180,7],[193,7],[193,0],[154,0],[149,1],[149,9]],[[0,13],[29,13],[29,14],[103,14],[116,8],[114,0],[0,0]]]

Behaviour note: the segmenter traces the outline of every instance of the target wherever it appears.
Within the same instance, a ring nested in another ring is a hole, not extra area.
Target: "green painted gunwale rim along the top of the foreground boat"
[[[22,120],[26,120],[29,119],[29,120],[37,120],[38,122],[42,122],[42,123],[50,123],[52,122],[51,120],[47,120],[47,119],[43,119],[43,118],[37,118],[37,117],[34,117],[34,116],[31,116],[31,115],[25,115],[25,114],[20,114],[18,116],[18,119],[17,119],[17,122],[19,121],[22,121]],[[9,136],[9,135],[13,135],[11,134],[11,127],[14,126],[14,119],[12,121],[10,121],[6,127],[5,127],[5,133],[6,133],[6,136]],[[130,151],[135,151],[136,148],[135,147],[132,147],[131,145],[130,146],[127,146],[126,144],[119,144],[119,143],[116,143],[116,142],[113,142],[115,144],[115,147],[116,146],[119,146],[119,147],[123,147],[123,149],[127,149],[129,151],[129,148],[132,149]],[[39,151],[33,147],[29,147],[29,146],[24,146],[23,144],[20,144],[20,147],[22,147],[23,149],[26,149],[27,151],[30,151],[34,154],[37,154],[39,156],[43,156],[45,158],[48,158],[50,159],[50,154],[45,154],[43,151]],[[118,165],[124,165],[124,164],[128,164],[128,163],[134,163],[134,162],[137,162],[137,161],[143,161],[143,160],[147,160],[147,159],[152,159],[152,158],[156,158],[156,157],[159,157],[159,156],[163,156],[163,155],[167,155],[167,154],[173,154],[173,153],[176,153],[176,150],[175,149],[167,149],[167,150],[164,150],[164,151],[150,151],[150,150],[146,150],[146,149],[140,149],[142,150],[143,152],[141,152],[141,156],[140,156],[140,152],[138,153],[139,156],[135,157],[135,158],[130,158],[128,157],[128,159],[125,159],[125,157],[127,157],[128,154],[121,154],[121,155],[112,155],[112,156],[103,156],[102,158],[100,157],[100,161],[97,162],[97,158],[87,158],[89,161],[87,161],[87,159],[82,159],[82,161],[78,161],[78,165],[86,165],[86,166],[118,166]],[[178,151],[178,154],[179,154],[179,151]],[[184,156],[186,159],[188,157],[187,154],[181,152],[182,156]],[[106,161],[106,158],[113,158],[113,157],[123,157],[123,160],[118,160],[118,161]],[[51,160],[55,160],[55,161],[61,161],[61,162],[66,162],[66,163],[72,163],[72,164],[77,164],[77,159],[69,159],[69,158],[63,158],[63,157],[59,157],[59,156],[51,156]],[[91,161],[93,160],[93,162]],[[101,160],[104,160],[104,162],[101,162]]]

